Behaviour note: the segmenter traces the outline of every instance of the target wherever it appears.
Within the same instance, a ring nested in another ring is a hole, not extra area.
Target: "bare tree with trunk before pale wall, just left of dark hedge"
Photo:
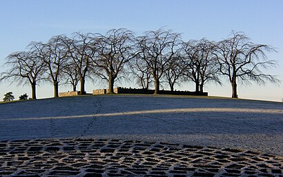
[[[134,49],[133,32],[130,30],[119,28],[109,30],[106,36],[100,35],[97,57],[92,61],[100,69],[96,74],[108,81],[108,93],[113,93],[118,74],[135,57]]]

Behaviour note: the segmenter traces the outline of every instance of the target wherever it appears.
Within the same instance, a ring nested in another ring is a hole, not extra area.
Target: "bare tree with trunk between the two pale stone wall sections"
[[[91,59],[96,52],[94,34],[81,34],[75,32],[72,39],[64,40],[68,48],[72,63],[75,65],[77,73],[79,74],[79,81],[81,83],[80,94],[85,94],[85,83],[90,67],[92,67]]]

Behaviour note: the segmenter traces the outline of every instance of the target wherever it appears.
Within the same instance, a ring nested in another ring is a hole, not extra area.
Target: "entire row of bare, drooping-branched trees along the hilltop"
[[[135,37],[125,28],[102,34],[75,32],[72,37],[58,35],[47,43],[32,42],[26,51],[14,52],[7,57],[8,70],[1,73],[0,81],[12,79],[32,87],[50,81],[54,97],[59,96],[59,84],[72,84],[85,93],[86,78],[108,81],[108,92],[113,93],[117,79],[133,76],[144,89],[154,83],[155,94],[160,84],[168,83],[170,90],[184,81],[195,83],[195,92],[203,92],[208,82],[222,84],[226,76],[237,98],[237,81],[262,84],[280,83],[276,76],[262,69],[275,67],[266,52],[275,52],[269,45],[252,43],[242,32],[233,32],[219,42],[207,39],[182,41],[181,34],[159,29]]]

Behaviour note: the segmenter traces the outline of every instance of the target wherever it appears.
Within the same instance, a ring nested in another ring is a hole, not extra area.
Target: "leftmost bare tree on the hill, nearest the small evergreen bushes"
[[[32,44],[35,45],[35,44]],[[37,45],[41,45],[40,43]],[[37,46],[41,48],[40,46]],[[32,87],[32,99],[36,99],[36,85],[43,79],[45,63],[37,50],[14,52],[7,57],[10,67],[1,73],[1,79],[17,81],[19,85],[29,83]]]

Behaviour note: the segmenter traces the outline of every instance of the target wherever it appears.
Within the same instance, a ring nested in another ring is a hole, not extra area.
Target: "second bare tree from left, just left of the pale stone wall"
[[[52,37],[45,45],[44,62],[48,68],[48,81],[53,83],[54,97],[59,96],[59,82],[68,63],[68,48],[64,45],[66,37]]]

